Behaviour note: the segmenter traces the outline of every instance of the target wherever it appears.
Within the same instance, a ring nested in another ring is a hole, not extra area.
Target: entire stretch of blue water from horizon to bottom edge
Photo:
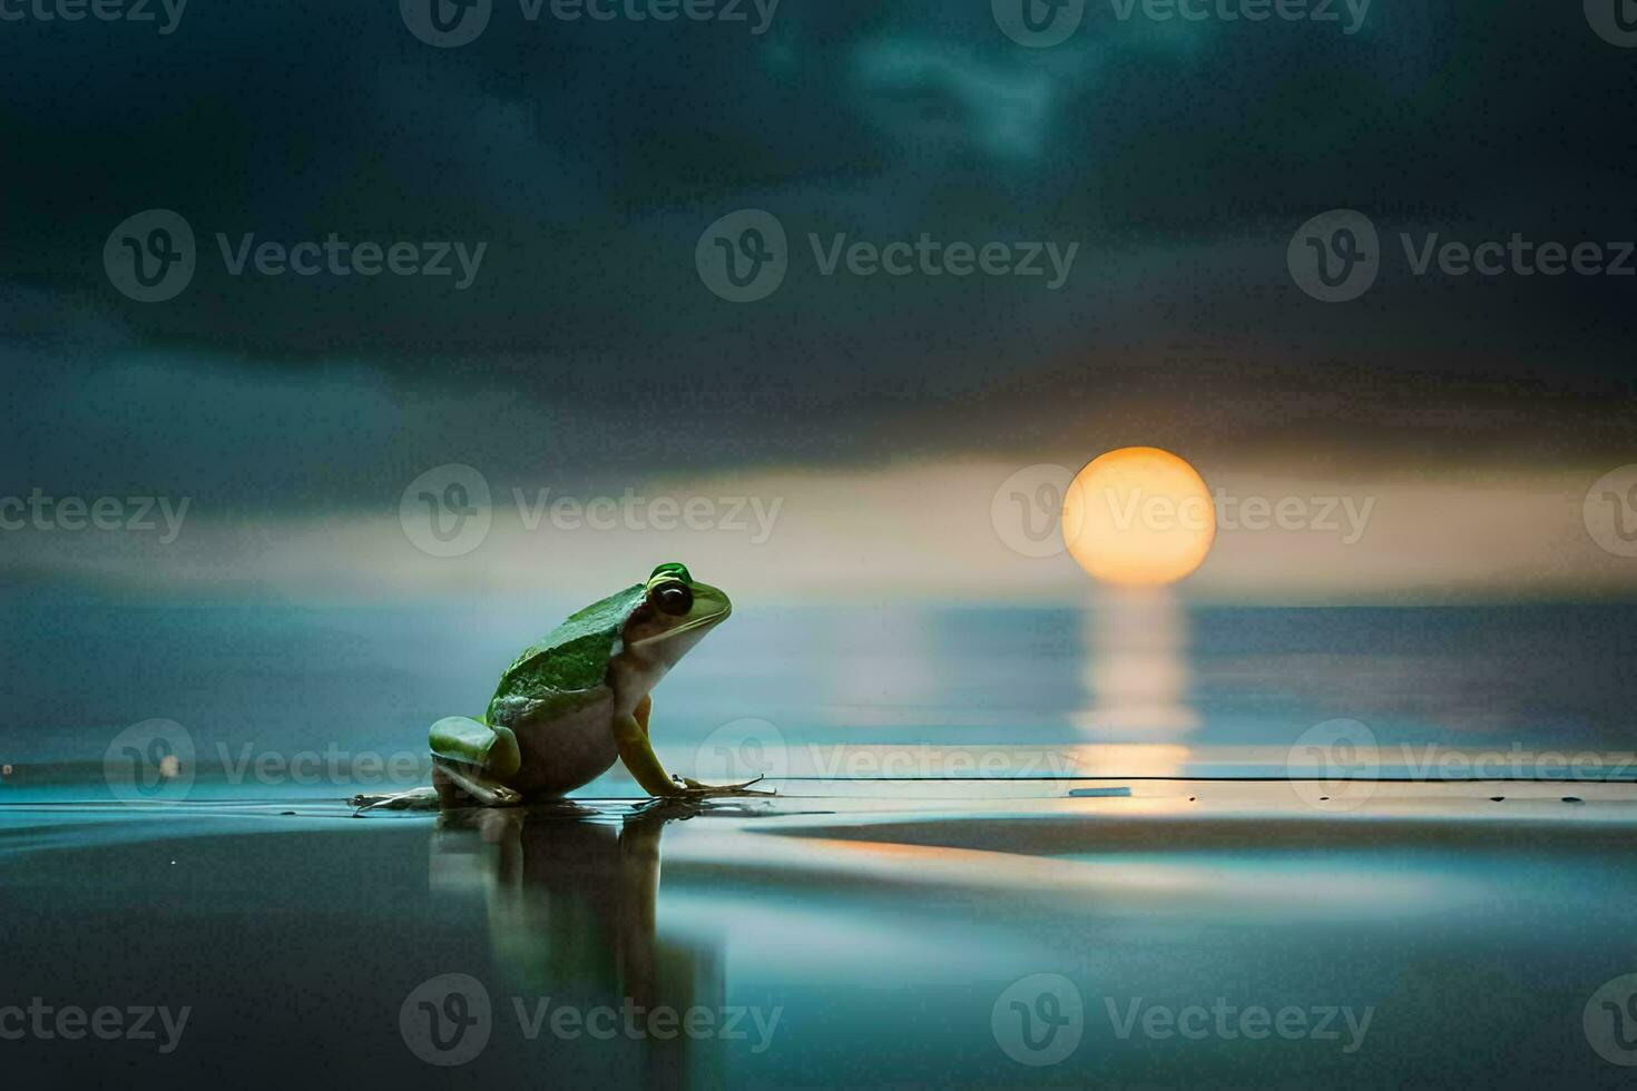
[[[553,610],[8,594],[0,1034],[44,1022],[0,1055],[25,1081],[1630,1071],[1593,1045],[1637,1034],[1604,1006],[1626,986],[1599,993],[1637,973],[1622,610],[742,610],[655,736],[678,770],[792,777],[774,800],[638,813],[614,772],[555,808],[354,818]],[[1336,718],[1364,765],[1244,780]],[[121,734],[149,720],[182,734]],[[1437,775],[1554,749],[1614,783]],[[54,1022],[105,1008],[187,1024]]]

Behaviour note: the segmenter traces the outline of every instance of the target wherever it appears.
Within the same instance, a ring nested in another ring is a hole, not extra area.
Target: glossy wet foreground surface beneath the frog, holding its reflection
[[[1629,1080],[1581,1021],[1637,970],[1637,790],[1383,785],[1316,815],[1288,785],[1131,788],[784,783],[692,816],[11,805],[7,996],[188,1016],[174,1039],[7,1042],[7,1065],[257,1088]]]

